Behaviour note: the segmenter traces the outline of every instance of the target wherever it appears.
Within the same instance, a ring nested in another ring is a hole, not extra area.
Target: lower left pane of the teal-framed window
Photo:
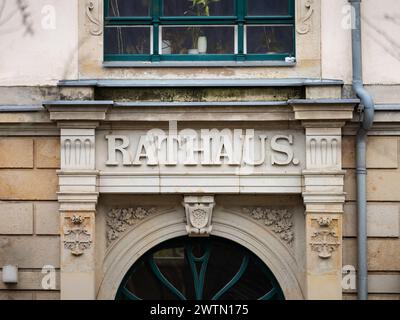
[[[150,27],[106,27],[105,54],[150,54]]]

